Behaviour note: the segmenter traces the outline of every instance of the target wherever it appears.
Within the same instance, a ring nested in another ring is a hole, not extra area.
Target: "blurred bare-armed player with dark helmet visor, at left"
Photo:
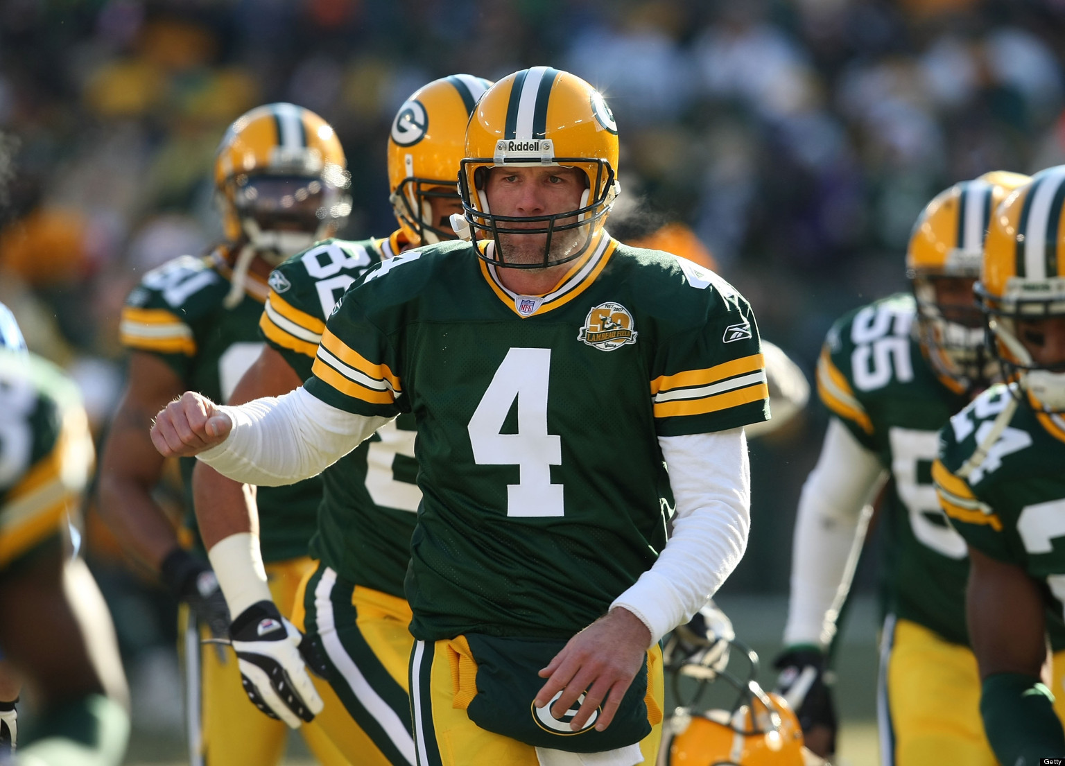
[[[182,256],[144,276],[121,316],[131,354],[129,381],[112,421],[100,476],[100,512],[141,563],[182,602],[190,756],[194,764],[275,764],[286,729],[256,713],[241,689],[236,657],[203,638],[228,638],[229,614],[194,535],[179,535],[152,490],[163,460],[148,428],[159,407],[193,388],[227,401],[257,358],[259,316],[274,266],[331,235],[350,212],[344,151],[332,128],[291,103],[258,107],[227,131],[215,158],[216,198],[226,240],[206,257]],[[186,493],[195,461],[182,461]],[[263,489],[268,523],[263,558],[278,604],[289,612],[311,568],[307,543],[321,498],[315,478]],[[186,532],[195,529],[190,506]],[[305,736],[324,763],[331,745],[311,728]]]

